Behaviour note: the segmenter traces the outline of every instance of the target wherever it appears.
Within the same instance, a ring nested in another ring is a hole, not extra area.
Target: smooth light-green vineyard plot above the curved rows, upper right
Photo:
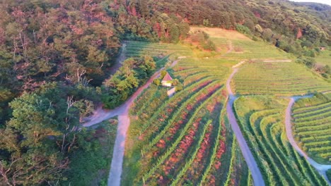
[[[231,87],[239,94],[295,95],[330,91],[331,83],[297,63],[248,62],[240,67]]]

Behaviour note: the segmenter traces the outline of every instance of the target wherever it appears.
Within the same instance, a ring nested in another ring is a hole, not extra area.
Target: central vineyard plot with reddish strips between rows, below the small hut
[[[182,91],[168,98],[153,85],[132,108],[122,185],[248,185],[225,117],[229,69],[186,58],[174,70]]]

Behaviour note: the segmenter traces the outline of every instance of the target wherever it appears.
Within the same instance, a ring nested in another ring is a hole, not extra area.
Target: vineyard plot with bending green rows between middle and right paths
[[[266,185],[327,185],[286,137],[284,111],[288,100],[239,97],[234,104],[240,128],[255,155]]]

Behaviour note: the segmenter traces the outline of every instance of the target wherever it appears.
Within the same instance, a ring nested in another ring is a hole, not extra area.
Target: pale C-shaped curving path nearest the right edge
[[[308,97],[311,97],[311,96],[308,96]],[[298,147],[298,144],[296,144],[296,141],[294,140],[293,132],[292,132],[292,125],[291,125],[291,108],[294,105],[294,102],[296,101],[296,99],[300,99],[300,98],[303,98],[303,97],[291,97],[290,101],[289,101],[289,105],[286,108],[286,115],[285,115],[286,136],[289,139],[289,142],[292,145],[292,147],[294,147],[294,149],[296,149],[296,151],[298,151],[298,154],[305,157],[306,160],[310,163],[310,165],[313,166],[318,171],[318,173],[320,173],[320,175],[322,175],[325,178],[325,180],[327,181],[327,183],[329,185],[331,185],[331,182],[327,178],[327,175],[326,175],[326,171],[331,168],[331,165],[322,165],[320,163],[317,163],[313,159],[311,159],[306,154],[306,152],[304,152],[300,147]]]

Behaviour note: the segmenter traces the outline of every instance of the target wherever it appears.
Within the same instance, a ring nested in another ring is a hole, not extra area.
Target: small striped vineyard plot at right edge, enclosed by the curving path
[[[321,163],[331,163],[331,99],[318,94],[299,100],[293,109],[294,135],[304,151]]]

